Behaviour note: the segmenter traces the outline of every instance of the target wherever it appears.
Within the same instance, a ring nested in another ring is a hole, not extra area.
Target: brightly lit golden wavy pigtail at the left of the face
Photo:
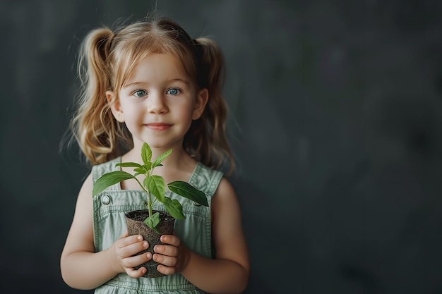
[[[80,48],[81,82],[78,111],[71,121],[74,136],[85,157],[99,164],[117,156],[117,137],[125,133],[112,116],[106,91],[111,89],[107,61],[114,33],[107,27],[92,30]]]

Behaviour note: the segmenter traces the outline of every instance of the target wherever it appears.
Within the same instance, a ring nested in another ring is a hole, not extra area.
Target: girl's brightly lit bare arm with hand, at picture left
[[[134,278],[142,276],[145,269],[132,267],[150,259],[150,255],[131,255],[148,247],[143,237],[127,234],[111,247],[95,253],[92,227],[92,178],[83,183],[76,204],[71,229],[61,253],[60,268],[63,280],[72,288],[97,288],[111,278],[126,271]]]

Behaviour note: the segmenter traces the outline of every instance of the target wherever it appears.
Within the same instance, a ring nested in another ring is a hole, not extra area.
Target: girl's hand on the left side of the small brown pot
[[[128,236],[127,230],[120,238],[109,248],[114,257],[114,264],[116,271],[119,273],[128,274],[131,278],[139,278],[145,274],[145,267],[133,269],[140,264],[148,262],[152,258],[150,252],[142,255],[135,255],[136,253],[145,250],[149,247],[148,241],[143,240],[142,235]],[[135,255],[135,256],[133,256]]]

